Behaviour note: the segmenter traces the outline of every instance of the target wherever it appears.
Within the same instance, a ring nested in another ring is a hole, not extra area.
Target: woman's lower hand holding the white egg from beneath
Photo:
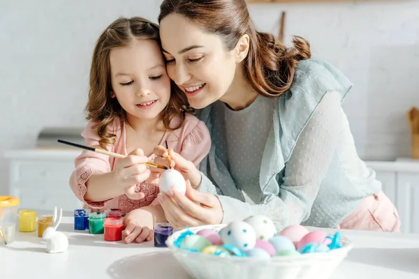
[[[157,197],[166,219],[175,229],[186,226],[216,225],[223,220],[223,209],[219,199],[211,193],[201,193],[186,181],[185,195],[176,190],[168,194],[159,193]]]

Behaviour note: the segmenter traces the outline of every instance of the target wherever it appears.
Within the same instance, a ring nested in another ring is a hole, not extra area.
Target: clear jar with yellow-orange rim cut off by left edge
[[[0,196],[0,244],[15,241],[17,207],[20,200],[17,197]]]

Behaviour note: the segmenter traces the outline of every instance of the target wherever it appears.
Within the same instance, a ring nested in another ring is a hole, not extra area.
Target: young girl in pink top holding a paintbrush
[[[82,151],[70,185],[91,209],[119,208],[123,215],[139,209],[124,220],[127,243],[151,240],[153,223],[166,221],[156,201],[159,188],[142,164],[154,160],[154,146],[167,142],[196,166],[210,150],[205,123],[184,112],[186,98],[170,88],[156,24],[120,18],[103,31],[91,63],[82,136],[87,146],[128,156]]]

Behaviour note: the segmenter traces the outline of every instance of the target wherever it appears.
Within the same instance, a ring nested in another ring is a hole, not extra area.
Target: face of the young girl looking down
[[[113,96],[128,116],[154,119],[170,100],[170,79],[155,40],[135,39],[110,51]]]

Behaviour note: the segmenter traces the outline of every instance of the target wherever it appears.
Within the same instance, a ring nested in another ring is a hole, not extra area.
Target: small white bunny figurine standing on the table
[[[68,248],[68,238],[62,232],[57,232],[57,227],[61,222],[63,216],[63,209],[59,209],[59,217],[57,218],[57,206],[54,208],[54,218],[52,219],[52,226],[47,227],[43,232],[43,239],[47,241],[47,252],[57,253],[65,252]]]

